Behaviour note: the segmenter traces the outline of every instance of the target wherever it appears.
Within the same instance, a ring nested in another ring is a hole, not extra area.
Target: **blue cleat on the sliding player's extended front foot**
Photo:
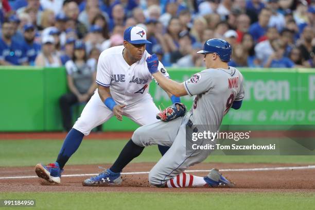
[[[82,182],[83,186],[106,186],[112,184],[120,184],[120,173],[114,173],[110,169],[106,169],[95,177],[86,179]]]

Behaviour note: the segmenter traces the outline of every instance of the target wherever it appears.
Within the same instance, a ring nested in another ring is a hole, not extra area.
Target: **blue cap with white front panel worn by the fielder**
[[[147,40],[147,32],[140,26],[130,26],[124,32],[124,40],[131,44],[151,44]]]

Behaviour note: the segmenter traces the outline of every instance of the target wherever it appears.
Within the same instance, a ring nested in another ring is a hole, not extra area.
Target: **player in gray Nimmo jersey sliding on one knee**
[[[183,83],[165,78],[158,71],[159,61],[156,55],[147,58],[149,72],[160,86],[176,96],[195,96],[193,107],[185,113],[183,104],[174,103],[172,107],[157,115],[157,118],[162,121],[138,128],[122,149],[116,162],[98,176],[84,180],[84,186],[119,184],[122,169],[149,145],[170,146],[149,173],[151,185],[158,187],[234,186],[217,169],[212,169],[205,177],[184,173],[189,166],[202,162],[213,151],[186,148],[187,136],[204,129],[217,132],[223,116],[231,107],[239,109],[244,97],[241,73],[236,68],[228,66],[232,54],[228,42],[221,39],[207,40],[203,50],[198,53],[204,54],[207,69]],[[215,144],[215,141],[206,138],[198,141],[199,146],[208,144]]]

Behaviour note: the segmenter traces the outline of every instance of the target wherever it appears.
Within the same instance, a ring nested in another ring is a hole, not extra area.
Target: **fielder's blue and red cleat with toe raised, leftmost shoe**
[[[49,163],[48,165],[44,166],[43,164],[39,163],[35,166],[35,172],[39,178],[42,178],[44,180],[47,180],[48,182],[54,182],[57,184],[60,184],[60,177],[61,172],[59,164],[57,162],[55,163]]]

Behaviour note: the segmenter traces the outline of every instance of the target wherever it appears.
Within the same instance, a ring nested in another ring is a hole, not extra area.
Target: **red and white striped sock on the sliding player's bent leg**
[[[178,188],[178,187],[201,187],[204,186],[206,182],[203,177],[196,177],[187,173],[180,173],[176,177],[168,180],[165,187],[168,188]]]

